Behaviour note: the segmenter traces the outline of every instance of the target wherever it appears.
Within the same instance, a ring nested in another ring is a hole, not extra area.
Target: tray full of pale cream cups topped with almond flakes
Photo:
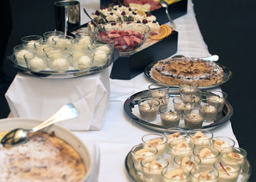
[[[170,128],[149,133],[125,157],[131,181],[247,181],[247,151],[232,138],[205,129]]]

